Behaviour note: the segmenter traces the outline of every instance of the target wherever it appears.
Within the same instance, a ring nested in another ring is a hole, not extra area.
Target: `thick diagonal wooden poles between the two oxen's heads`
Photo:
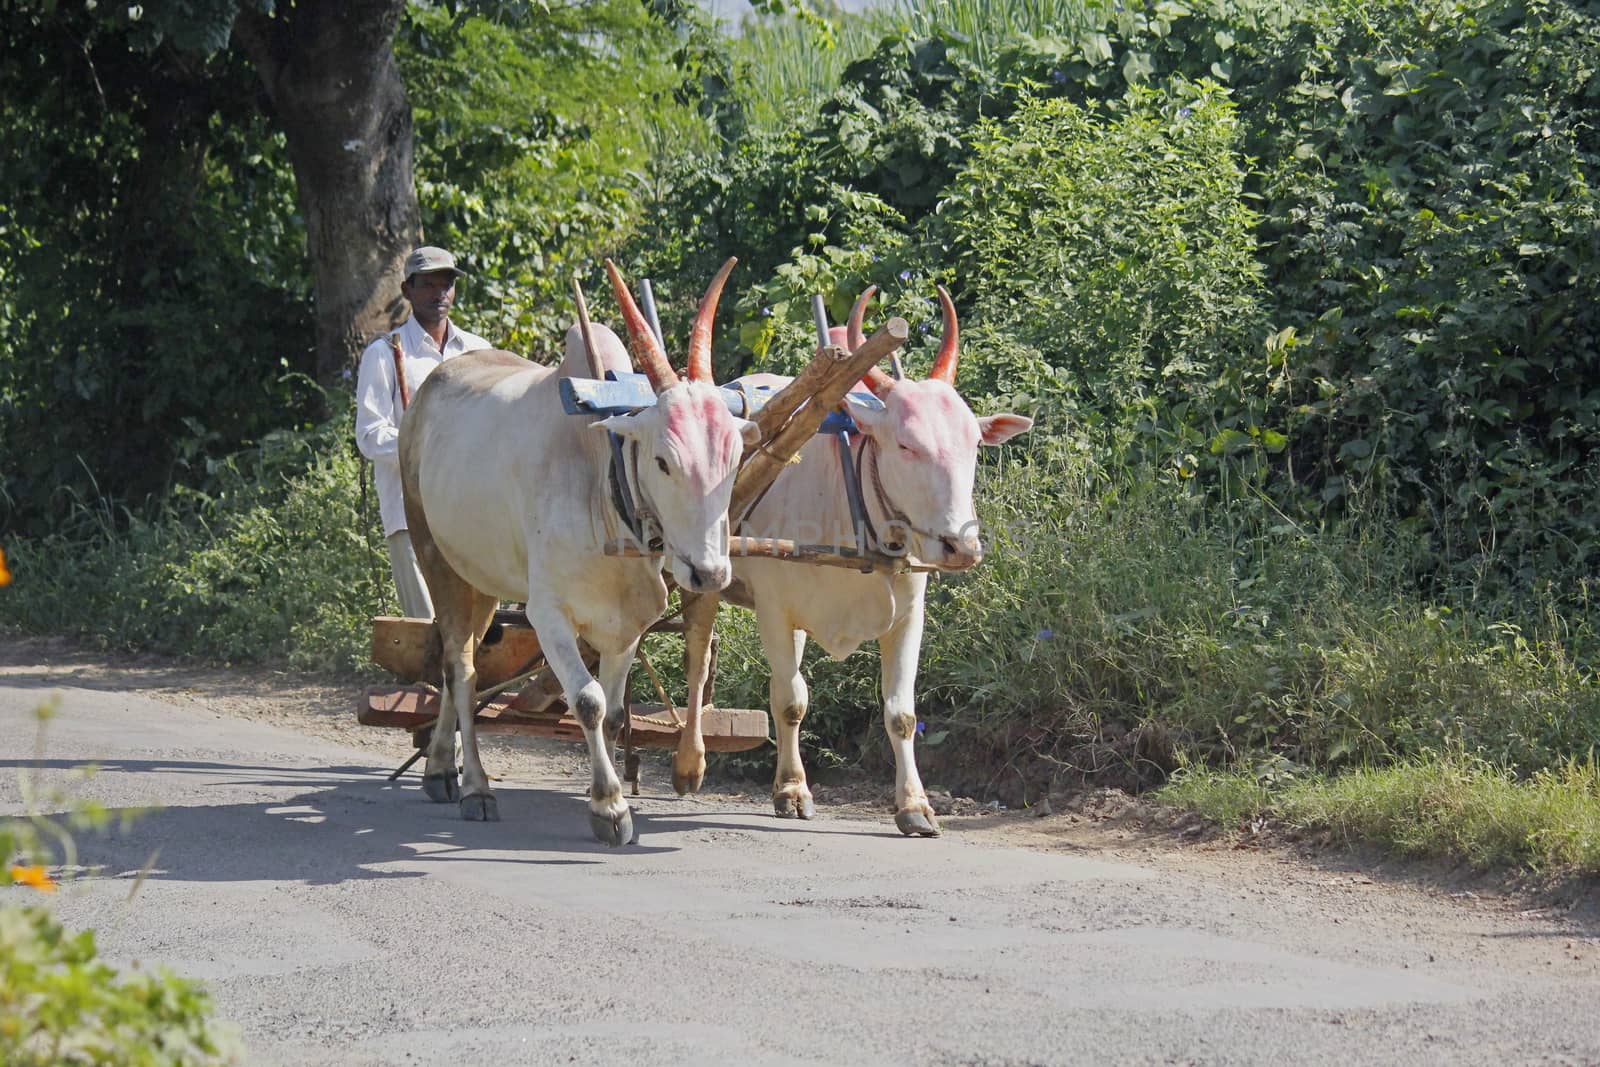
[[[822,419],[843,403],[845,394],[854,389],[862,374],[877,366],[883,357],[906,344],[907,336],[910,326],[896,315],[854,352],[832,344],[824,346],[792,382],[766,402],[766,406],[755,414],[755,424],[762,427],[762,443],[746,456],[733,480],[728,522],[734,531],[762,493],[816,435]]]

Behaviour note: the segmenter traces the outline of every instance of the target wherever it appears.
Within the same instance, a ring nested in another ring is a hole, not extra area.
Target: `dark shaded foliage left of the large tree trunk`
[[[8,533],[48,533],[74,494],[142,507],[320,400],[304,224],[254,74],[147,53],[139,32],[83,10],[6,14]]]

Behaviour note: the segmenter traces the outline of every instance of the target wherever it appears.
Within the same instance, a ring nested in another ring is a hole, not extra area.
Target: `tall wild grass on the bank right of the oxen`
[[[986,470],[992,550],[939,579],[923,704],[974,739],[1160,721],[1197,755],[1315,766],[1458,745],[1522,771],[1600,744],[1600,685],[1539,621],[1398,593],[1397,528],[1040,448]],[[1470,603],[1470,590],[1462,590]]]

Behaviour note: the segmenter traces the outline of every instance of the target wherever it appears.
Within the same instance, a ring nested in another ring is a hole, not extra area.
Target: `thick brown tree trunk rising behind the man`
[[[234,24],[277,112],[294,165],[317,307],[317,379],[331,386],[362,347],[406,315],[402,262],[421,218],[411,102],[394,38],[405,0],[298,0]]]

